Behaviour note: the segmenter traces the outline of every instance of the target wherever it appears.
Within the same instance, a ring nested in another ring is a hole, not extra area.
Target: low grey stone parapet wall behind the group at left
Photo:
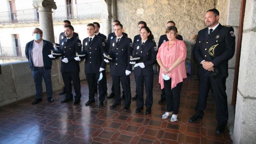
[[[84,80],[84,62],[80,62],[80,69],[80,80]],[[0,106],[35,95],[34,79],[27,60],[1,64],[1,71]],[[54,60],[52,64],[52,89],[53,91],[60,90],[63,86],[64,83],[60,73],[60,60]],[[45,92],[44,82],[43,92]]]

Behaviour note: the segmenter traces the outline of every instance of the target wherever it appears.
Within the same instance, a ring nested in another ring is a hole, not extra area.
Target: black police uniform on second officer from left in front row
[[[88,82],[89,88],[89,100],[94,101],[94,90],[97,89],[95,87],[95,81],[97,81],[100,77],[100,68],[106,67],[106,62],[103,60],[103,52],[105,51],[105,42],[104,39],[94,36],[92,41],[90,42],[90,38],[85,38],[83,40],[83,48],[82,52],[86,53],[85,61],[84,61],[84,73],[86,75],[86,80]],[[106,70],[102,71],[102,74],[106,76]],[[104,79],[99,81],[98,90],[99,90],[99,101],[103,102],[105,100],[104,94]]]

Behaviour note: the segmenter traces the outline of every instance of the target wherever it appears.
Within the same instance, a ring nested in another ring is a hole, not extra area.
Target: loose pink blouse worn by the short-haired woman
[[[170,68],[171,65],[180,58],[182,62],[168,72],[168,76],[172,78],[172,86],[174,88],[178,83],[183,82],[183,78],[187,78],[185,59],[187,54],[187,48],[183,40],[177,40],[172,44],[168,50],[169,41],[164,42],[158,49],[156,59],[160,59],[166,68]],[[161,84],[161,89],[164,88],[164,79],[162,76],[162,68],[160,68],[159,73],[159,83]]]

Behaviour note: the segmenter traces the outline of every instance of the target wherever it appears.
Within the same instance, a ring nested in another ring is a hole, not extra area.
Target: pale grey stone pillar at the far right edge
[[[246,0],[238,76],[234,144],[256,142],[256,0]]]

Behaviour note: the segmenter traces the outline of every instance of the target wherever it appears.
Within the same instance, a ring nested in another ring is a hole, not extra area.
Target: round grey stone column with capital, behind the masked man
[[[43,39],[50,42],[54,40],[54,30],[52,22],[52,8],[57,9],[54,0],[33,0],[34,8],[38,8],[39,24],[43,31]]]

